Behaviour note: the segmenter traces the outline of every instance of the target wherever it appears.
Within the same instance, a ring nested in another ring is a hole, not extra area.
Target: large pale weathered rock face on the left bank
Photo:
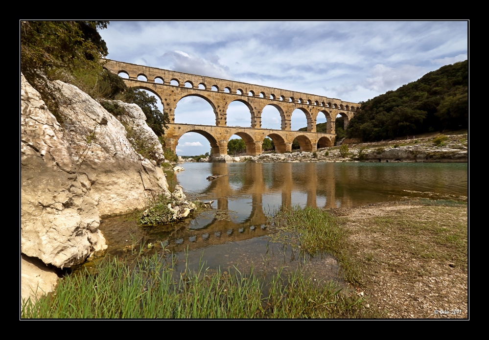
[[[100,215],[142,208],[168,185],[113,115],[70,84],[54,86],[62,125],[21,75],[21,252],[63,268],[107,247]]]

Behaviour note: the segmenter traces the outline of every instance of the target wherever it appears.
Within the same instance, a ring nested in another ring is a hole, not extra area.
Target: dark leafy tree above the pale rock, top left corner
[[[98,29],[107,28],[107,21],[21,21],[21,72],[41,94],[56,118],[56,95],[48,81],[70,77],[75,70],[102,72],[101,57],[108,54],[107,45]]]

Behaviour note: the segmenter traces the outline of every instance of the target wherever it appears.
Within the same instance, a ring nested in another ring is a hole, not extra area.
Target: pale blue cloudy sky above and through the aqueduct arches
[[[349,102],[468,58],[466,21],[113,21],[100,35],[108,59]],[[177,103],[175,123],[215,125],[215,115],[204,99],[187,97]],[[244,104],[231,103],[227,124],[251,126]],[[295,111],[291,125],[307,126],[305,115]],[[262,127],[280,129],[277,109],[265,107]],[[209,151],[196,133],[177,146],[179,156]]]

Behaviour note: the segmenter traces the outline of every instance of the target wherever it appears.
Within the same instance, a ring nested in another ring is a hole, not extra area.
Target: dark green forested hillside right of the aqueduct
[[[361,103],[349,138],[364,141],[468,128],[468,61],[443,66],[419,80]]]

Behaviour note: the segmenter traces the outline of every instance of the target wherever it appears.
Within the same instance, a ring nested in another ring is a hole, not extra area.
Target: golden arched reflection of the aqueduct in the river
[[[212,214],[209,218],[201,215],[185,231],[177,233],[177,249],[186,249],[187,245],[198,249],[265,235],[268,210],[279,205],[337,206],[333,164],[321,172],[317,171],[317,163],[281,163],[280,171],[274,171],[277,164],[272,163],[208,165],[209,170],[200,174],[203,179],[208,175],[225,176],[210,181],[194,194],[202,200],[217,197],[217,210],[208,212]],[[188,176],[195,174],[189,171]],[[185,177],[186,171],[178,173],[179,182],[185,183]],[[271,201],[270,207],[263,206],[263,202]]]

